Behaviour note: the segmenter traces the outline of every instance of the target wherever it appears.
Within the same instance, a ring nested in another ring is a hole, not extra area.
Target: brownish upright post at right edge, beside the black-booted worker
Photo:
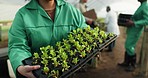
[[[140,60],[139,60],[139,74],[140,78],[148,77],[148,26],[144,28],[144,36],[143,42],[140,52]]]

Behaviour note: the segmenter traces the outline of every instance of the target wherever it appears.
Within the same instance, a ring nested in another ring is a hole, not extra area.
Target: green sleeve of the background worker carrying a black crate
[[[142,15],[139,15],[139,16],[142,16],[142,19],[138,21],[134,21],[135,26],[138,27],[138,26],[148,25],[148,6],[143,7]]]

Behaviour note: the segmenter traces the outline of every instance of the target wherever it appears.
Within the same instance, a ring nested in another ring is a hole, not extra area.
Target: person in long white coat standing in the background
[[[105,24],[107,26],[107,32],[116,34],[117,36],[120,35],[119,26],[117,24],[118,16],[117,14],[111,10],[110,6],[106,7],[106,18],[105,18]],[[108,51],[111,52],[113,47],[115,46],[115,41],[113,41],[108,46]]]

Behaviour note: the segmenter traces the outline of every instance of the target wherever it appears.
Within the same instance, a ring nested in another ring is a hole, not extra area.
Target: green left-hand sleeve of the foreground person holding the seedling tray
[[[8,56],[15,73],[22,60],[31,56],[24,26],[22,15],[18,12],[8,32]]]

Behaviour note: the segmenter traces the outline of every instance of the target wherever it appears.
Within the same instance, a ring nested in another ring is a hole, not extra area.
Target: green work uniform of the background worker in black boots
[[[135,55],[136,43],[142,34],[144,26],[148,25],[148,3],[143,2],[132,16],[135,26],[127,28],[127,37],[125,41],[125,49],[128,55]]]

